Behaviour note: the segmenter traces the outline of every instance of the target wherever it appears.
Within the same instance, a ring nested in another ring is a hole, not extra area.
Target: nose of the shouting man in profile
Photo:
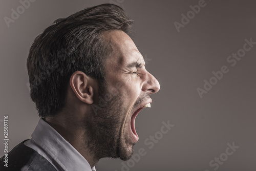
[[[147,76],[145,82],[142,86],[142,91],[154,94],[160,90],[160,84],[158,80],[149,72],[147,72]]]

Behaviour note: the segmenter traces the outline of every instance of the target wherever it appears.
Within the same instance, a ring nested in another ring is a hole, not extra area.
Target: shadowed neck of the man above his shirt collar
[[[91,167],[95,166],[99,159],[95,159],[89,151],[87,141],[84,139],[87,136],[82,122],[79,123],[74,117],[66,116],[68,115],[58,114],[45,120],[88,161]]]

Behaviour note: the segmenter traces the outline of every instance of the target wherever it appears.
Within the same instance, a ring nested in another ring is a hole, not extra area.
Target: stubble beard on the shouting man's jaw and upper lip
[[[84,141],[87,142],[89,153],[94,156],[95,160],[106,157],[129,160],[133,155],[135,143],[127,143],[124,137],[127,134],[124,131],[130,129],[130,127],[125,129],[125,126],[129,126],[129,124],[124,123],[123,129],[121,127],[124,119],[122,116],[126,115],[128,108],[123,107],[124,102],[119,93],[113,95],[103,84],[100,86],[99,97],[105,97],[105,94],[111,95],[109,99],[105,99],[106,105],[96,113],[92,110],[90,117],[84,122],[87,130]],[[142,94],[141,98],[135,102],[134,107],[137,108],[148,98],[150,98],[149,94]],[[129,120],[129,118],[127,119]]]

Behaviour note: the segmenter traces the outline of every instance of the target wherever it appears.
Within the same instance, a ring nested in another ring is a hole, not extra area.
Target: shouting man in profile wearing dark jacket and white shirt
[[[131,158],[135,117],[160,89],[127,35],[131,24],[120,7],[103,4],[36,37],[27,68],[41,118],[8,154],[8,170],[95,170],[101,158]]]

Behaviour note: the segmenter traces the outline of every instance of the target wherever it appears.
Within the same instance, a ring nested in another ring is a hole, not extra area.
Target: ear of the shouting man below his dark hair
[[[70,77],[70,86],[79,100],[88,104],[93,103],[93,96],[98,86],[96,79],[76,71]]]

